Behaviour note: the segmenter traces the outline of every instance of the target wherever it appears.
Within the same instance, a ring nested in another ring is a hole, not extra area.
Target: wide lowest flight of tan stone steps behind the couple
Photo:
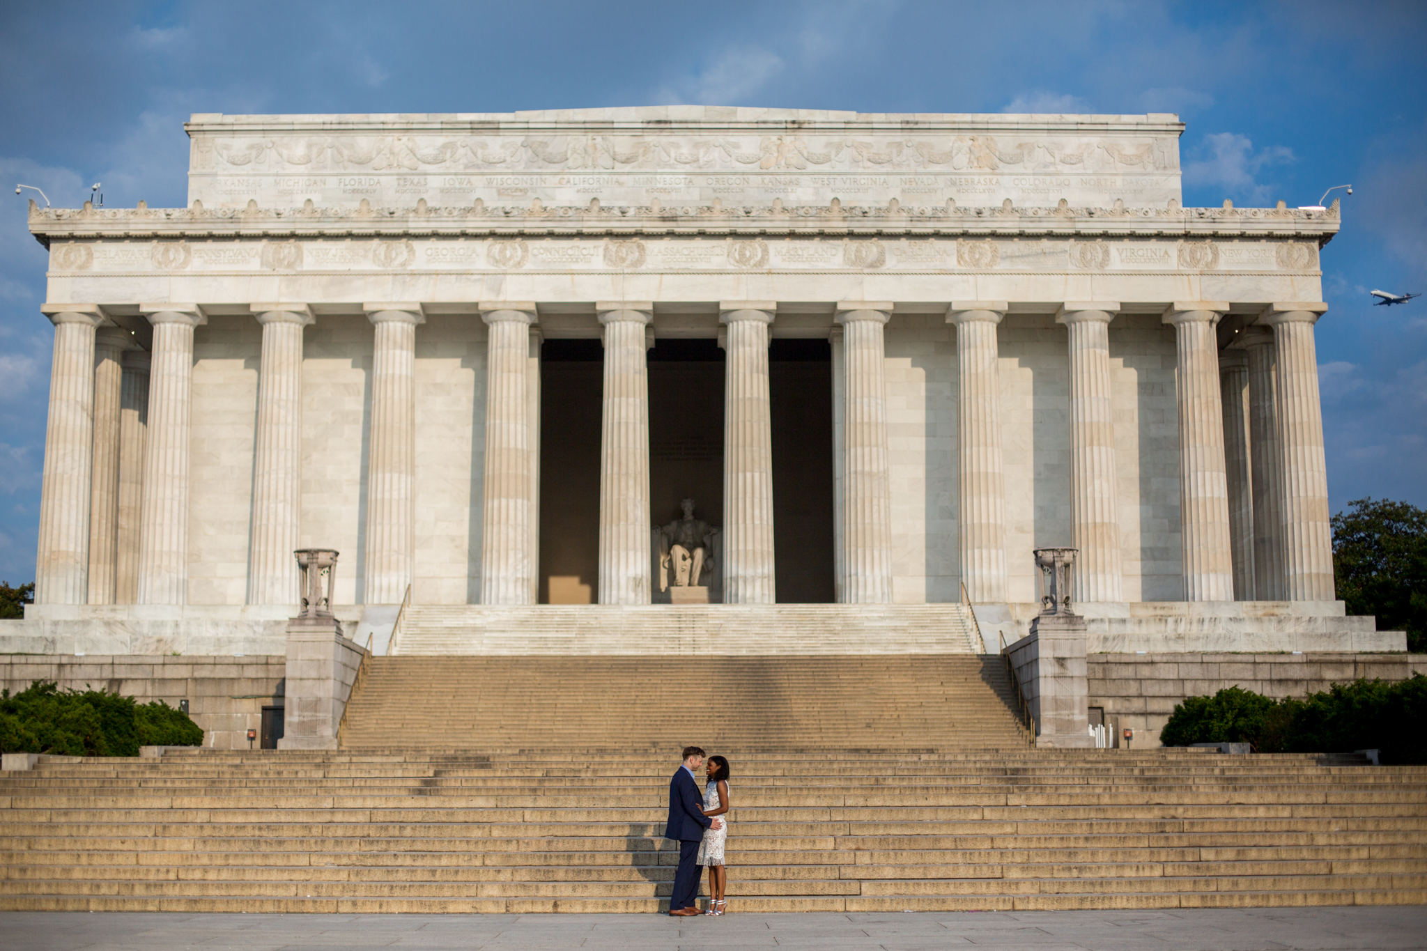
[[[1427,901],[1427,768],[1189,751],[749,751],[729,911]],[[0,778],[0,910],[656,911],[659,753],[194,751]]]

